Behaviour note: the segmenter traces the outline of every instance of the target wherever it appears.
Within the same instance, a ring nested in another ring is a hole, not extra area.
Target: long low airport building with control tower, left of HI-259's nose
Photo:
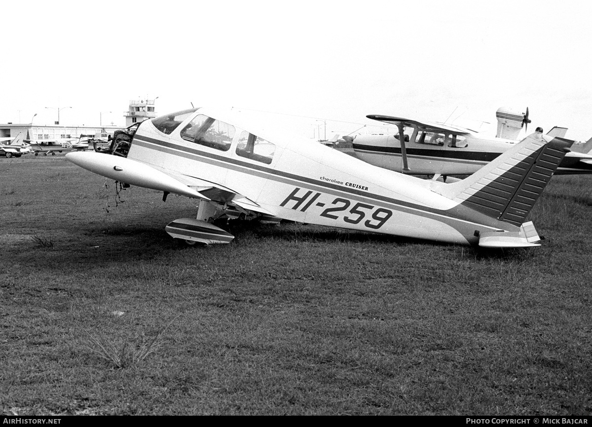
[[[156,117],[154,99],[131,100],[128,111],[124,112],[126,127]],[[81,135],[94,138],[107,138],[112,136],[115,130],[121,126],[62,126],[55,124],[33,124],[33,123],[0,123],[0,138],[15,137],[19,133],[24,139],[29,140],[51,140],[63,138],[77,138]]]

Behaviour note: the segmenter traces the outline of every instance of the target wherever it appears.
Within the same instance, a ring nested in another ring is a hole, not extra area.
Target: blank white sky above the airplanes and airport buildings
[[[57,0],[2,16],[0,123],[72,107],[62,124],[123,125],[130,99],[158,97],[159,114],[282,113],[269,120],[306,120],[309,137],[314,118],[495,124],[502,106],[529,107],[533,130],[592,136],[590,1]]]

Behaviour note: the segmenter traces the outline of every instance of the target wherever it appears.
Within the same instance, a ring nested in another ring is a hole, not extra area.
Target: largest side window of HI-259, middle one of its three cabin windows
[[[199,114],[181,130],[181,137],[216,150],[228,151],[234,132],[231,124]]]

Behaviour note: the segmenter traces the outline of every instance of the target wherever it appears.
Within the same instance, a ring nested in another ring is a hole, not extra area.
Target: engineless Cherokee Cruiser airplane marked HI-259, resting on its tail
[[[462,181],[445,184],[380,169],[276,134],[232,110],[192,108],[139,124],[110,153],[66,159],[121,183],[197,198],[197,218],[165,230],[189,244],[229,243],[210,221],[287,219],[486,248],[539,246],[525,221],[572,141],[527,136]]]

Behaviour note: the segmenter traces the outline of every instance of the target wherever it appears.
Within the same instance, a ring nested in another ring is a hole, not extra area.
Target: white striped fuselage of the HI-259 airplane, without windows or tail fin
[[[182,127],[163,134],[145,121],[127,159],[184,181],[194,179],[195,187],[211,179],[274,216],[304,223],[462,244],[478,241],[475,230],[519,230],[503,221],[478,223],[451,213],[459,203],[433,191],[446,184],[381,169],[305,139],[270,138],[276,149],[267,165],[238,156],[236,138],[221,152],[182,139]]]

